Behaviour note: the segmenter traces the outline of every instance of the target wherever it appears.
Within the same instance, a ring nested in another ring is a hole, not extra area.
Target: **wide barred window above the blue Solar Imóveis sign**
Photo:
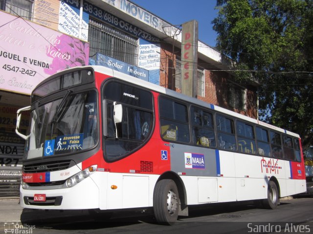
[[[107,24],[89,20],[89,57],[99,52],[114,59],[137,65],[137,39],[110,27]]]

